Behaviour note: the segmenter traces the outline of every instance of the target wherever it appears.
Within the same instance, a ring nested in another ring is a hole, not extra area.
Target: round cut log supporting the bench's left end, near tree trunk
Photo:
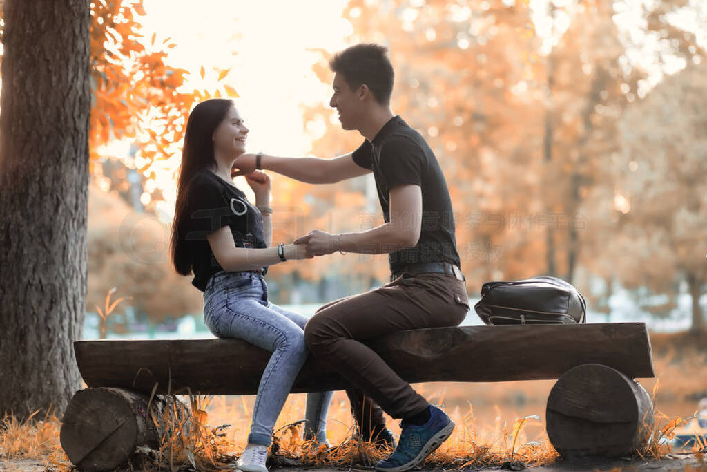
[[[159,449],[163,435],[170,437],[173,425],[189,419],[189,408],[182,402],[173,405],[171,396],[154,396],[149,405],[152,414],[148,400],[144,393],[122,388],[77,391],[59,434],[71,464],[81,470],[110,471],[126,464],[138,446]]]

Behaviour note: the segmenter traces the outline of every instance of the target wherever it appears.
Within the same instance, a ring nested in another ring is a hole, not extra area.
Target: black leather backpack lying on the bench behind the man
[[[586,323],[587,303],[573,285],[541,275],[515,282],[486,282],[474,305],[487,325]]]

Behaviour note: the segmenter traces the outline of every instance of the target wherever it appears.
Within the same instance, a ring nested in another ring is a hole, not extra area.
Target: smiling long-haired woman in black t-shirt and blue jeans
[[[308,355],[308,318],[268,300],[269,265],[312,258],[305,244],[271,247],[270,179],[245,175],[255,206],[231,178],[248,133],[232,100],[199,103],[187,120],[177,182],[170,252],[175,270],[204,292],[204,323],[218,338],[238,338],[272,352],[258,386],[248,444],[238,468],[267,472],[265,461],[276,419]],[[308,393],[305,439],[326,444],[333,392]]]

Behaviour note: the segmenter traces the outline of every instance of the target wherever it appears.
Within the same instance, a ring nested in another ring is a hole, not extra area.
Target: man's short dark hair
[[[387,56],[388,49],[375,43],[349,46],[334,54],[329,69],[341,74],[351,90],[366,84],[381,105],[390,103],[393,92],[393,66]]]

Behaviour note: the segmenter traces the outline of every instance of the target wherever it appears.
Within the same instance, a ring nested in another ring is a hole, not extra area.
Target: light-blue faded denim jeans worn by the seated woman
[[[277,417],[309,353],[307,316],[267,299],[267,284],[255,272],[214,274],[204,290],[204,323],[217,338],[237,338],[272,352],[260,378],[248,442],[269,446]],[[305,439],[327,439],[333,391],[307,394]]]

